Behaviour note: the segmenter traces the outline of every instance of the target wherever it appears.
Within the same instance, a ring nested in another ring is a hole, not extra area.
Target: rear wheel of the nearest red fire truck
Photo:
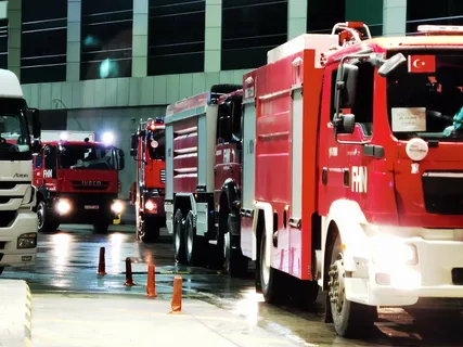
[[[280,273],[271,266],[266,266],[266,231],[263,230],[262,236],[260,237],[260,288],[267,303],[276,304],[282,297],[281,286],[279,285],[279,282],[281,283],[281,281],[279,281]]]

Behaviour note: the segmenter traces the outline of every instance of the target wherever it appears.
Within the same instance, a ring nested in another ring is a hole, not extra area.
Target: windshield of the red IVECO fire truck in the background
[[[104,145],[60,145],[60,168],[87,170],[115,170],[114,149]]]

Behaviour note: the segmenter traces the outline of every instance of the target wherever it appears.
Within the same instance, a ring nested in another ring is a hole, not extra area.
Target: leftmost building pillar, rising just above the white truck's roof
[[[22,0],[8,3],[8,69],[21,80],[21,31],[22,31]]]

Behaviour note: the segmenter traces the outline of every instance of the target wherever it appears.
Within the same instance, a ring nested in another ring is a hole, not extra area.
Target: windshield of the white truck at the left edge
[[[0,160],[30,160],[30,138],[23,99],[0,98]]]

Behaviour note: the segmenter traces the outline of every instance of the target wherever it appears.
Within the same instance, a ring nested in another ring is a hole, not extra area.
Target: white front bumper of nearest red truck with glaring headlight
[[[347,298],[371,306],[410,306],[421,298],[463,298],[463,242],[400,239],[401,248],[382,245],[382,261],[353,257],[353,278],[346,278]],[[407,261],[397,261],[400,258]],[[415,258],[414,260],[410,260]],[[357,277],[357,278],[356,278]]]

